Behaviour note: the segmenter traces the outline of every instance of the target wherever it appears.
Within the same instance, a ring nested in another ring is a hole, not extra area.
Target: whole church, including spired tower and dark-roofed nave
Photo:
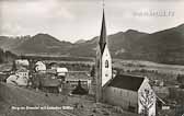
[[[112,57],[106,36],[105,12],[95,59],[95,100],[146,116],[156,116],[156,94],[147,77],[112,76]]]

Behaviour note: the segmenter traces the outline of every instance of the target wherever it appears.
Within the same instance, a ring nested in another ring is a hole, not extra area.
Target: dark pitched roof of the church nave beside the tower
[[[139,76],[119,74],[111,80],[107,86],[138,91],[145,78]]]

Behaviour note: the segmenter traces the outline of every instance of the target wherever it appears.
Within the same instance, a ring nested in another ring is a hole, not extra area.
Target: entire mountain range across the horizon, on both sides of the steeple
[[[108,46],[114,58],[181,65],[184,63],[183,32],[184,24],[152,34],[128,30],[108,35]],[[7,39],[0,36],[0,46],[18,54],[94,57],[97,39],[99,36],[71,44],[48,34],[37,34],[26,39]]]

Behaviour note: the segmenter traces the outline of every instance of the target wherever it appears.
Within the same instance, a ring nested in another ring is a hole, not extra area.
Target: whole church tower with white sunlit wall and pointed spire
[[[112,58],[107,45],[105,12],[103,9],[101,35],[97,43],[96,61],[96,102],[103,100],[103,88],[112,79]]]

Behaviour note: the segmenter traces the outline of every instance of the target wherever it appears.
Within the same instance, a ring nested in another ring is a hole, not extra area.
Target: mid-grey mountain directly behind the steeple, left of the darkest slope
[[[146,36],[146,33],[129,30],[127,32],[119,32],[108,36],[108,46],[112,56],[116,57],[118,54],[129,51],[135,43],[140,37]],[[135,37],[136,36],[136,37]],[[70,49],[72,56],[90,56],[94,57],[99,37],[94,37],[82,44],[77,44]]]

